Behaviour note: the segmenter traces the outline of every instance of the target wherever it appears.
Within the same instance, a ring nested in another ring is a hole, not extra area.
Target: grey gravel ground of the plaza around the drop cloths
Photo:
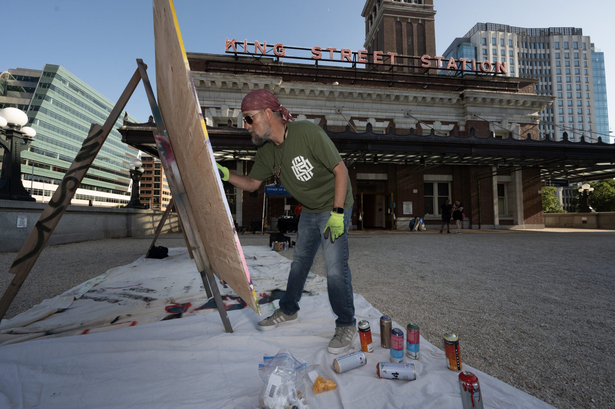
[[[462,361],[557,408],[613,408],[613,232],[351,234],[353,290]],[[244,235],[242,244],[268,243]],[[145,253],[151,238],[47,247],[7,317]],[[161,238],[184,246],[181,236]],[[581,255],[577,249],[595,249]],[[110,255],[113,254],[113,257]],[[292,259],[292,251],[282,255]],[[0,289],[15,253],[0,254]],[[312,271],[326,275],[322,254]]]

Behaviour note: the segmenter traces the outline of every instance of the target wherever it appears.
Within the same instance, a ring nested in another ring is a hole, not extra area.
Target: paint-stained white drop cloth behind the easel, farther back
[[[245,246],[245,260],[259,300],[274,289],[285,289],[291,261],[266,246]],[[66,274],[69,274],[67,271]],[[236,292],[218,281],[227,310],[244,308]],[[327,279],[310,273],[306,291],[326,292]],[[44,300],[0,323],[0,345],[34,338],[54,338],[101,332],[191,314],[208,314],[202,279],[186,247],[169,249],[165,259],[140,257],[105,274]]]

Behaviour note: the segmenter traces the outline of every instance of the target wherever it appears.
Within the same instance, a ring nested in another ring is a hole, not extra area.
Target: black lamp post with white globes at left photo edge
[[[6,142],[0,139],[5,150],[0,172],[0,199],[36,201],[22,183],[21,149],[28,149],[36,136],[33,128],[23,126],[26,123],[28,115],[25,112],[13,107],[0,109],[0,134],[6,137]]]

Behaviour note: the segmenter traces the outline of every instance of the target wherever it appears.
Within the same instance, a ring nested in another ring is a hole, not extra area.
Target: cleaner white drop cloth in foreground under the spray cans
[[[354,297],[357,320],[370,321],[377,341],[381,313],[361,295]],[[263,315],[276,306],[263,305]],[[229,312],[234,333],[224,332],[218,314],[207,314],[2,346],[0,407],[256,408],[263,386],[258,364],[263,355],[287,348],[308,365],[321,364],[338,385],[316,397],[308,394],[312,409],[461,408],[458,373],[446,368],[444,353],[431,343],[421,338],[421,360],[413,362],[416,381],[376,376],[376,363],[389,360],[389,350],[378,342],[367,365],[336,374],[335,356],[327,352],[335,327],[327,295],[303,297],[300,306],[298,322],[267,332],[256,330],[260,317],[245,308]],[[464,368],[478,376],[485,408],[552,408]]]

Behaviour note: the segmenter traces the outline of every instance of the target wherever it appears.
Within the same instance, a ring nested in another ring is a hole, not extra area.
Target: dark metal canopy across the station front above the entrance
[[[325,133],[343,155],[346,166],[354,163],[363,163],[367,155],[378,154],[380,163],[419,165],[421,156],[426,162],[442,160],[448,155],[451,162],[446,165],[475,165],[475,166],[530,166],[539,165],[545,160],[558,159],[557,165],[542,165],[542,177],[549,177],[550,172],[558,172],[561,166],[568,165],[569,175],[566,177],[571,182],[581,181],[582,176],[574,176],[574,171],[581,165],[590,169],[584,169],[585,174],[592,174],[593,179],[605,179],[615,173],[615,144],[606,142],[590,143],[587,141],[573,142],[567,137],[562,141],[544,139],[496,139],[481,138],[470,131],[469,136],[457,135],[438,136],[435,133],[416,134],[410,129],[406,134],[397,134],[389,131],[386,134],[374,133],[373,131],[359,131],[354,133],[349,130],[335,132],[327,130]],[[239,150],[245,158],[255,156],[250,133],[242,128],[208,127],[207,132],[212,141],[215,152],[232,152]],[[122,141],[136,146],[135,144],[151,144],[149,139],[140,134],[139,136],[127,136],[128,131],[122,131]],[[243,153],[245,152],[245,154]],[[357,155],[359,157],[357,157]],[[387,156],[390,155],[390,156]],[[457,155],[457,159],[453,156]],[[406,162],[407,161],[407,162]],[[611,163],[612,166],[605,165]],[[600,165],[598,165],[600,164]],[[611,169],[613,169],[611,171]],[[418,169],[415,169],[415,172]]]

